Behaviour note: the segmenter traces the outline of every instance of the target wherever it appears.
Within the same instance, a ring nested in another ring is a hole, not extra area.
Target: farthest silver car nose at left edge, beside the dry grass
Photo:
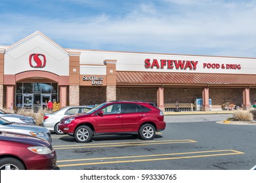
[[[31,124],[35,125],[35,119],[31,116],[24,116],[20,114],[7,113],[0,109],[0,117],[8,120],[9,122],[15,122],[20,124]]]

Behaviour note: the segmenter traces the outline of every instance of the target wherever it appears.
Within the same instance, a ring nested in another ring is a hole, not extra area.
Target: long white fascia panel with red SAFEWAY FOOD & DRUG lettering
[[[224,56],[190,56],[129,52],[81,52],[81,64],[100,64],[105,59],[116,59],[116,71],[213,73],[255,75],[256,58]],[[81,73],[93,75],[93,73]],[[98,74],[102,75],[102,74]]]

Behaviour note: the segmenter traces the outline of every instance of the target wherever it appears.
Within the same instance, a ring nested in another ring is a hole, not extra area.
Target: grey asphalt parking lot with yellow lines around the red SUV
[[[230,114],[165,116],[152,141],[132,135],[77,143],[53,134],[60,170],[248,170],[256,165],[256,125],[219,124]]]

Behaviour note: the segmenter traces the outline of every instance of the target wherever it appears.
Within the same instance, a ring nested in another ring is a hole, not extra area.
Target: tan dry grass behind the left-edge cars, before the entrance
[[[21,114],[25,116],[32,116],[35,119],[35,124],[37,125],[42,125],[44,113],[51,113],[50,110],[42,109],[42,108],[39,109],[38,112],[33,112],[33,110],[26,109],[26,108],[20,108],[16,110],[16,112],[14,112],[14,110],[7,109],[7,108],[3,108],[3,110],[8,113],[16,113],[16,114]]]

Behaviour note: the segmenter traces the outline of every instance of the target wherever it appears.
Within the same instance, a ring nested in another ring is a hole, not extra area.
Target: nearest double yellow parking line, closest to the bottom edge
[[[217,154],[214,154],[214,153],[217,153]],[[201,155],[193,156],[193,154],[201,154]],[[203,157],[211,157],[211,156],[228,156],[228,155],[237,155],[237,154],[244,154],[244,152],[239,152],[236,150],[212,150],[212,151],[201,151],[201,152],[181,152],[181,153],[172,153],[172,154],[152,154],[152,155],[142,155],[142,156],[66,159],[66,160],[59,160],[57,161],[57,163],[65,163],[65,162],[71,162],[71,161],[92,161],[92,160],[99,161],[99,162],[89,162],[89,163],[73,163],[73,164],[58,165],[58,167],[74,167],[74,166],[81,166],[81,165],[100,165],[100,164],[131,163],[131,162],[143,162],[143,161],[163,161],[163,160],[171,160],[171,159],[203,158]],[[188,156],[182,156],[182,155],[188,155]],[[163,156],[176,156],[176,157],[152,158],[152,157],[163,157]],[[133,158],[150,158],[150,159],[133,159]],[[103,160],[111,160],[111,159],[129,159],[129,160],[103,161]]]

